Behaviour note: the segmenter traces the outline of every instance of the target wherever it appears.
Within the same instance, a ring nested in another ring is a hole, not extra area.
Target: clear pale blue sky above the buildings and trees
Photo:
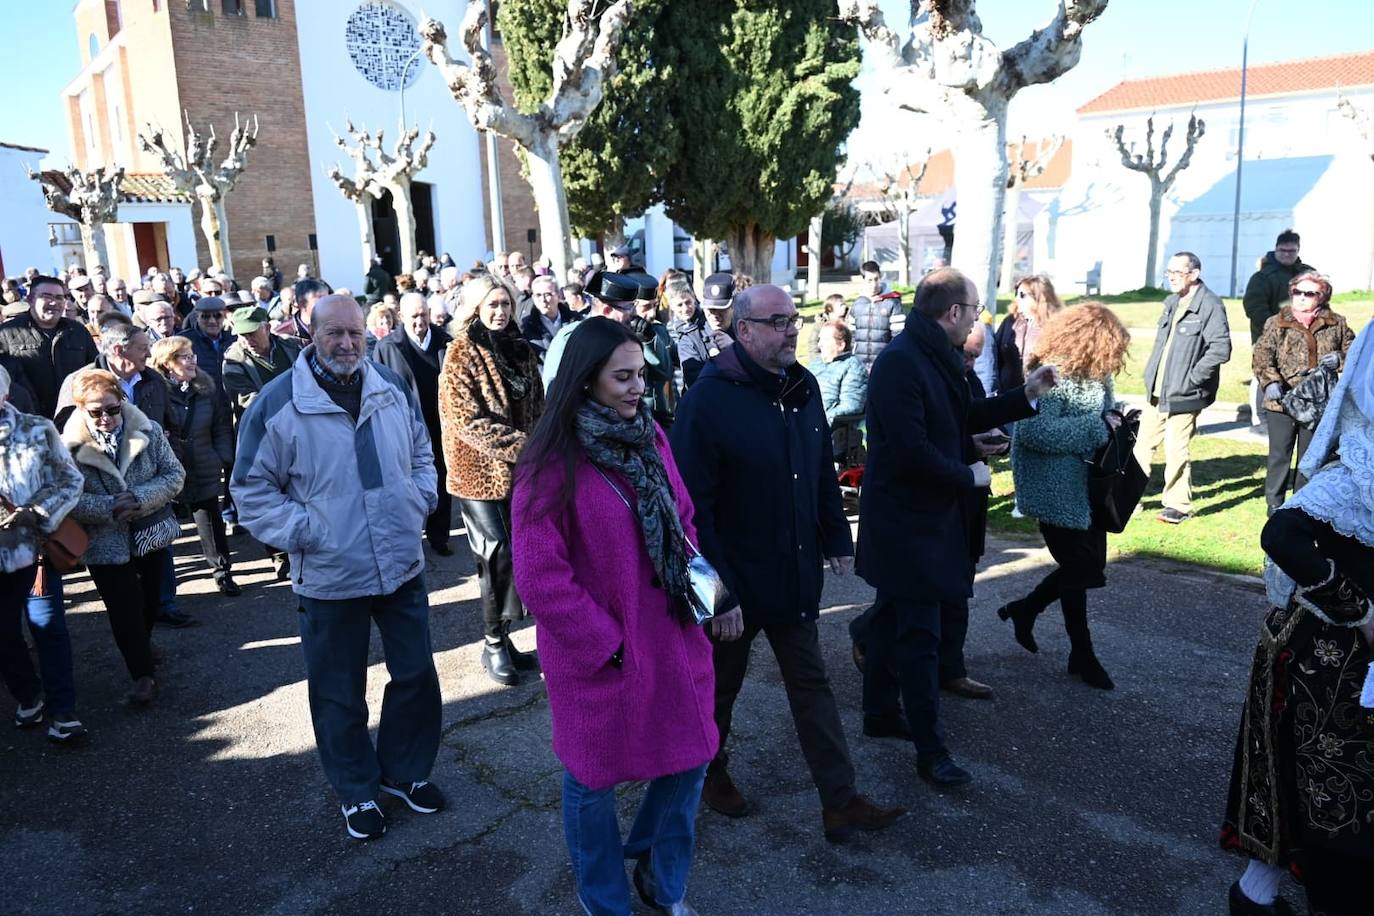
[[[81,66],[73,5],[73,0],[0,0],[0,34],[10,38],[0,69],[0,140],[45,147],[52,151],[49,165],[70,155],[60,93]],[[882,0],[882,7],[889,25],[904,32],[908,4]],[[1054,7],[1054,0],[984,0],[978,12],[985,34],[1009,47],[1047,21]],[[1081,63],[1051,87],[1017,96],[1013,130],[1035,133],[1040,124],[1052,129],[1123,78],[1239,66],[1248,7],[1249,0],[1112,0],[1087,30]],[[460,0],[429,3],[430,12],[452,18],[459,8]],[[1260,0],[1250,32],[1252,63],[1370,48],[1370,0],[1309,0],[1301,7]]]

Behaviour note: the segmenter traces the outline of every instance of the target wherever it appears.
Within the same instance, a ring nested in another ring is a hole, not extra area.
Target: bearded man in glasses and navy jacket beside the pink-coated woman
[[[749,648],[764,633],[820,792],[826,838],[837,842],[855,829],[882,829],[901,813],[855,790],[816,632],[822,566],[829,560],[835,574],[848,573],[853,541],[820,387],[797,364],[801,320],[791,297],[756,286],[734,308],[738,343],[701,371],[671,433],[701,552],[739,603],[712,625],[721,751],[706,770],[702,801],[732,817],[747,810],[725,770],[724,746]]]

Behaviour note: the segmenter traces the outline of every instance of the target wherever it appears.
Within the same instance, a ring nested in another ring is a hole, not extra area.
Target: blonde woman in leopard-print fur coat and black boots
[[[511,479],[544,411],[539,360],[513,320],[510,291],[491,277],[463,284],[453,342],[438,379],[448,492],[458,497],[482,589],[482,667],[497,684],[519,683],[533,655],[510,640],[525,617],[511,570]]]

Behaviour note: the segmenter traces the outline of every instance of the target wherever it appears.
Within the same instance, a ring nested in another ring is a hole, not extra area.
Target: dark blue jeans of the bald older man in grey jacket
[[[367,647],[372,621],[386,673],[376,748],[367,732]],[[301,597],[301,648],[311,722],[324,777],[344,805],[376,799],[378,781],[429,779],[438,755],[442,700],[429,632],[429,592],[416,575],[390,595]]]

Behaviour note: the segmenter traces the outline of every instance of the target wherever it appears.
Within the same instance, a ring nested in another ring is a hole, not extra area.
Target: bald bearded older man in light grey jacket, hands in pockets
[[[386,832],[378,791],[433,813],[441,700],[420,531],[438,501],[419,402],[364,358],[363,310],[315,304],[305,347],[239,423],[232,493],[239,523],[291,556],[311,720],[350,836]],[[367,732],[371,621],[386,650],[376,747]]]

